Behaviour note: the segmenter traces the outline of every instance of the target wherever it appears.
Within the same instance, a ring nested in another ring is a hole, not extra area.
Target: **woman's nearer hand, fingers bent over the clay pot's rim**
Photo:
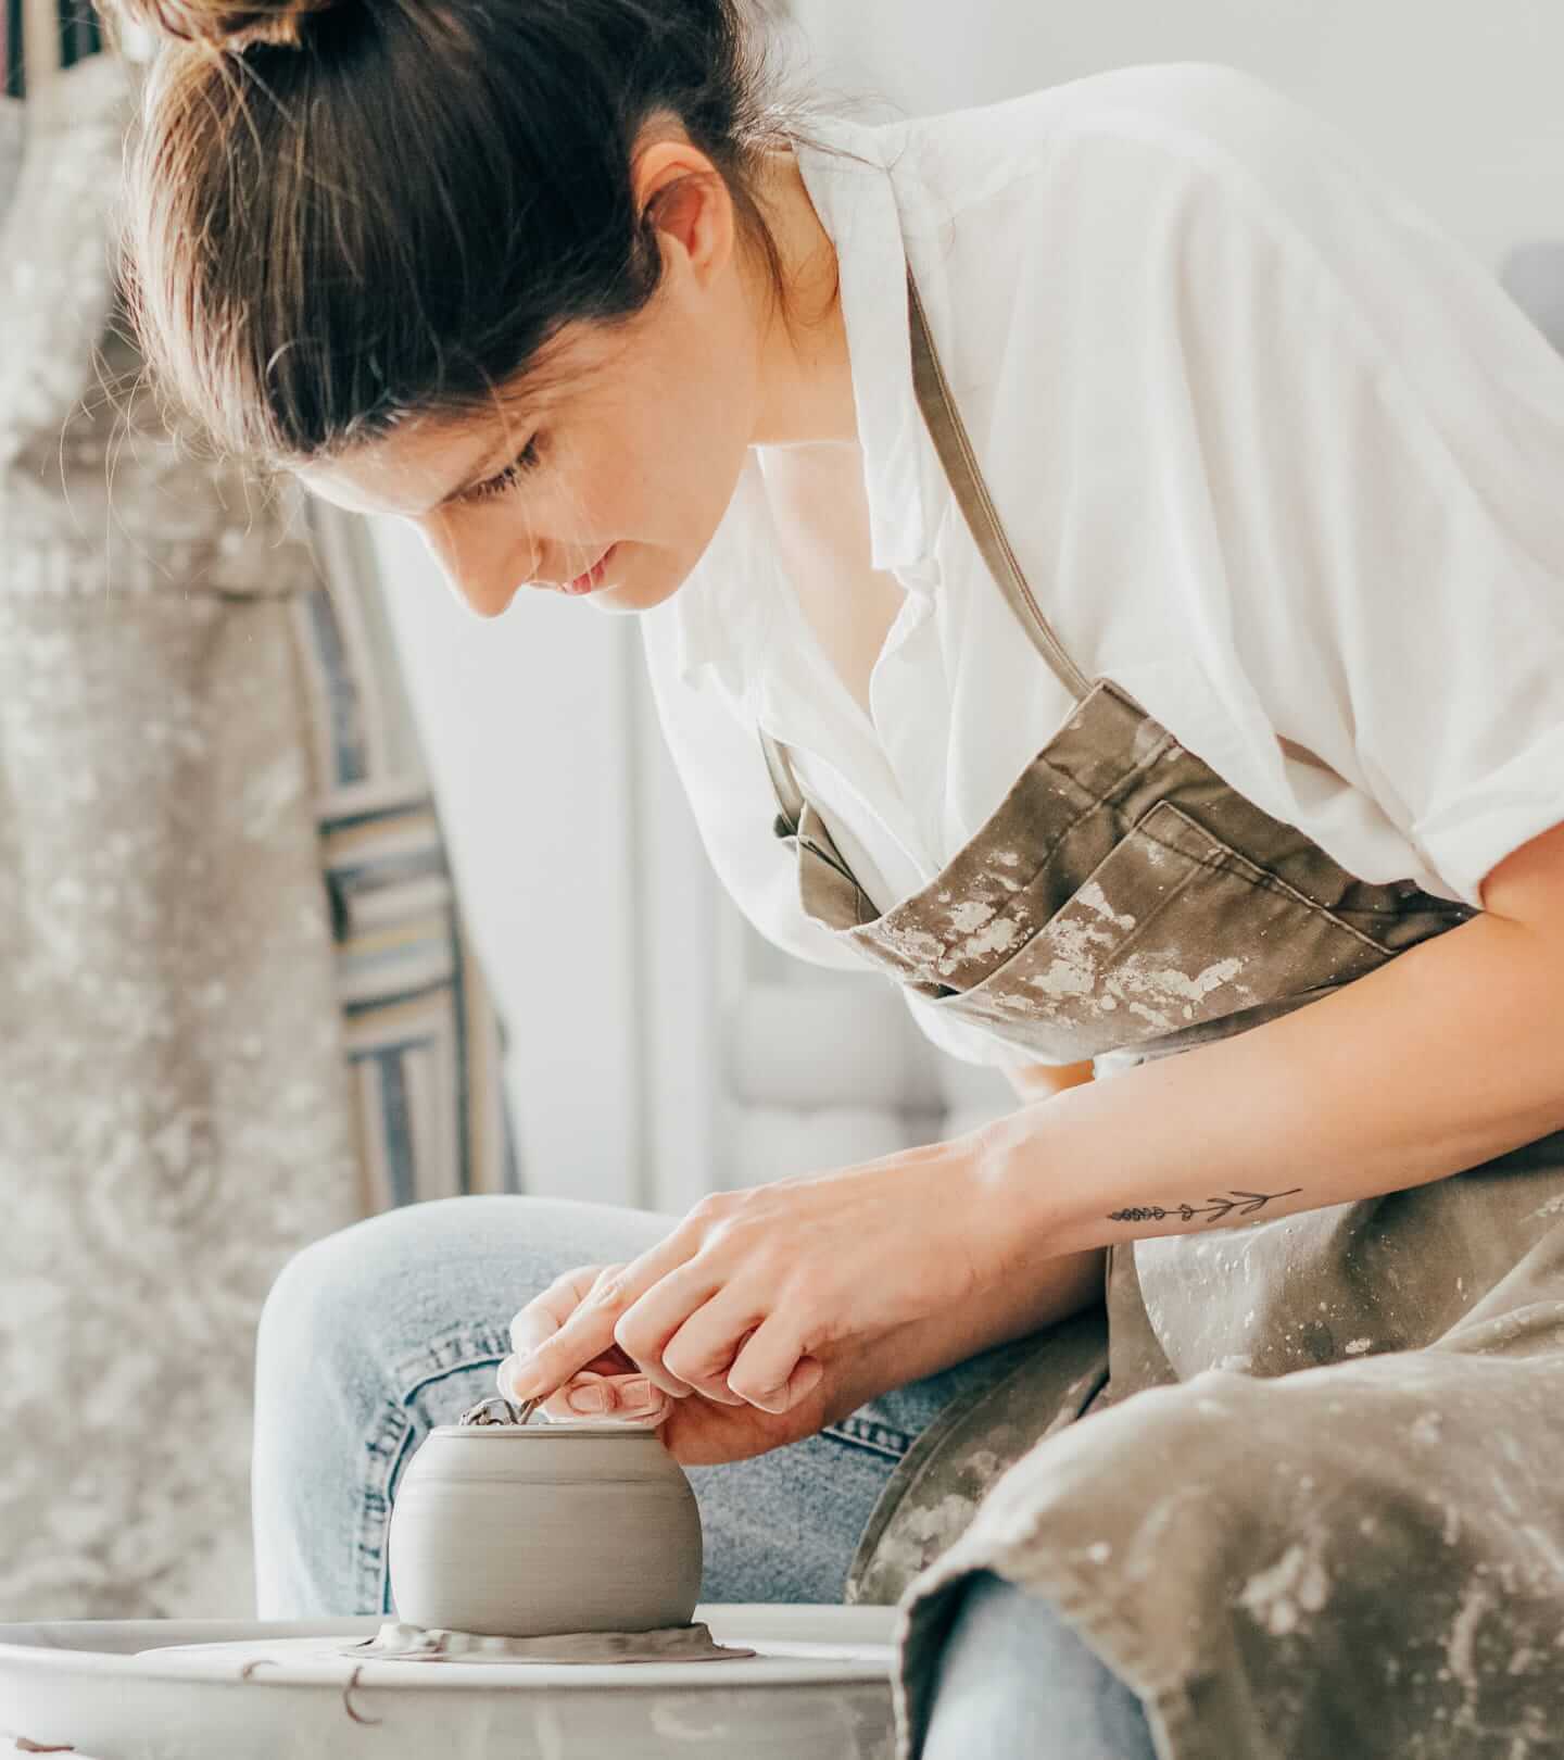
[[[512,1397],[547,1397],[618,1346],[674,1397],[786,1412],[820,1382],[815,1352],[948,1313],[1005,1274],[969,1148],[702,1199],[507,1364]]]

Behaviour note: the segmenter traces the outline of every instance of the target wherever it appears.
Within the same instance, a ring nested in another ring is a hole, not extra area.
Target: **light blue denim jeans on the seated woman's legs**
[[[528,1197],[435,1199],[371,1216],[283,1267],[255,1353],[257,1614],[391,1612],[385,1522],[436,1424],[496,1392],[517,1308],[575,1265],[621,1264],[677,1221]],[[839,1602],[887,1478],[978,1355],[818,1436],[690,1468],[705,1602]],[[1140,1700],[1040,1600],[973,1577],[938,1663],[924,1760],[1154,1760]]]

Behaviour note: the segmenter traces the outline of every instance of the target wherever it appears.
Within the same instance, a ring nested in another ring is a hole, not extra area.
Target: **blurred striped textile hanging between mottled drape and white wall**
[[[283,491],[287,495],[287,491]],[[364,523],[294,505],[322,583],[294,600],[366,1214],[521,1192],[505,1028],[463,924]]]

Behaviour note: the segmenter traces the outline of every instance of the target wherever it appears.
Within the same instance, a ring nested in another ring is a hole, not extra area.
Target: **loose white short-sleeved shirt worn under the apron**
[[[815,127],[869,162],[799,148],[841,268],[873,565],[906,588],[873,722],[778,561],[753,451],[693,574],[640,618],[702,840],[755,928],[864,966],[802,913],[756,725],[885,910],[1071,709],[924,426],[906,262],[1082,672],[1358,878],[1480,905],[1564,820],[1564,359],[1485,266],[1323,118],[1217,63]],[[1034,1061],[903,994],[955,1056]]]

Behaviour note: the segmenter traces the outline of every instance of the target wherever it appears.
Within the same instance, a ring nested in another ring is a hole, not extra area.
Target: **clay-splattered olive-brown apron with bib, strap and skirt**
[[[908,301],[952,489],[1075,709],[883,913],[762,730],[808,915],[934,1008],[1098,1077],[1471,919],[1346,873],[1085,679],[1005,539],[911,275]],[[897,1470],[848,1593],[904,1598],[903,1755],[976,1568],[1078,1626],[1163,1760],[1564,1755],[1564,1135],[1274,1220],[1263,1167],[1247,1188],[1209,1202],[1249,1225],[1110,1250],[1105,1308],[1006,1346]]]

